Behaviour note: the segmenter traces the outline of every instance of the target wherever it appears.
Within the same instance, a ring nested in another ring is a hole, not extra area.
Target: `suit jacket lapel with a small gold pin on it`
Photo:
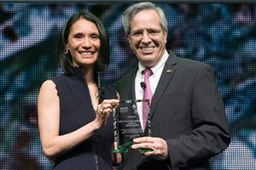
[[[175,54],[170,52],[168,59],[166,60],[166,64],[164,66],[164,70],[162,71],[160,81],[155,89],[154,96],[152,99],[152,103],[150,106],[150,117],[154,115],[154,110],[159,102],[160,96],[165,92],[168,83],[172,79],[172,75],[176,71],[177,58]]]

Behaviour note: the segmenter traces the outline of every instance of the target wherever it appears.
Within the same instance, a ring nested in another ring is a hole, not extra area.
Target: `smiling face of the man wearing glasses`
[[[160,26],[160,16],[154,10],[143,10],[134,15],[128,35],[131,49],[145,67],[158,63],[166,49],[167,32]]]

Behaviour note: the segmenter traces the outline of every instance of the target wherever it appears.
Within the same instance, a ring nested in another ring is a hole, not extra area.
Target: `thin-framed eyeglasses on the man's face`
[[[137,30],[137,31],[131,31],[129,36],[133,39],[142,39],[144,35],[144,31],[146,31],[146,34],[148,35],[149,38],[155,38],[160,35],[160,32],[162,30],[158,29],[146,29],[146,30]]]

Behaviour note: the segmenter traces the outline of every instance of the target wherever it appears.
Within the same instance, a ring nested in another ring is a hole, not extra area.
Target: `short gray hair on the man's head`
[[[167,31],[167,20],[166,14],[164,13],[162,8],[156,7],[154,3],[144,2],[144,3],[135,3],[131,7],[126,8],[123,14],[123,26],[125,29],[125,35],[128,35],[131,31],[131,20],[134,15],[143,11],[143,10],[155,10],[157,14],[160,16],[160,26],[163,30]]]

